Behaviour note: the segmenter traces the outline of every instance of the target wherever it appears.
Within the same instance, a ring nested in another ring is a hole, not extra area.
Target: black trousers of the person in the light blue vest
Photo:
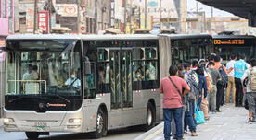
[[[243,105],[243,87],[242,82],[240,78],[235,78],[235,84],[236,84],[236,106],[242,106]]]

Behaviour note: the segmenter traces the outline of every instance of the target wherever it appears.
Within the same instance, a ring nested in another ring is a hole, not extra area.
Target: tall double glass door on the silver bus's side
[[[133,106],[132,50],[109,50],[111,109]]]

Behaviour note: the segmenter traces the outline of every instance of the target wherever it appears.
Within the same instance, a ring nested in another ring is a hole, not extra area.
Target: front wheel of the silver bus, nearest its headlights
[[[101,138],[107,134],[106,118],[106,114],[102,111],[102,109],[98,109],[96,115],[96,132],[94,134],[94,138]]]

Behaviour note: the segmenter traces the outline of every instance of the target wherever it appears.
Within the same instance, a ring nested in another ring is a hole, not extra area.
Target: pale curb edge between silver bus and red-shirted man
[[[146,133],[137,136],[134,140],[147,140],[147,139],[150,139],[150,138],[152,138],[152,136],[156,136],[156,134],[159,134],[160,131],[162,131],[162,129],[163,129],[163,122],[160,122],[160,124],[158,124],[157,126],[155,126],[152,129],[150,129]]]

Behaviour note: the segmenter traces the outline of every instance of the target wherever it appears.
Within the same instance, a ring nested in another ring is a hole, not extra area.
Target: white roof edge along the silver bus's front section
[[[73,40],[157,40],[158,36],[152,34],[105,34],[105,35],[64,35],[64,34],[16,34],[9,35],[7,40],[57,40],[57,39],[73,39]]]

